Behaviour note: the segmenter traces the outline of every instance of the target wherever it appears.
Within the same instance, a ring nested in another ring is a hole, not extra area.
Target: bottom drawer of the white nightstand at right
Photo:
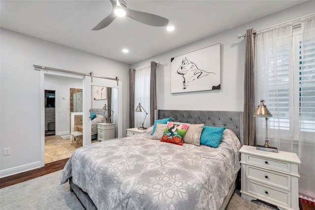
[[[256,195],[260,198],[264,198],[271,202],[278,203],[280,205],[291,207],[291,194],[287,191],[276,190],[258,182],[247,180],[247,192]]]

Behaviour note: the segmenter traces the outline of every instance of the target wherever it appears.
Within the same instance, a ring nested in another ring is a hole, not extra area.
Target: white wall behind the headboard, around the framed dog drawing
[[[131,68],[149,65],[151,61],[159,61],[160,65],[157,69],[158,109],[243,111],[245,39],[238,39],[237,35],[245,34],[247,29],[259,30],[314,13],[314,8],[315,1],[309,1],[145,59],[131,65]],[[171,94],[170,59],[217,43],[221,43],[221,90]],[[257,99],[257,103],[259,103],[259,99]]]

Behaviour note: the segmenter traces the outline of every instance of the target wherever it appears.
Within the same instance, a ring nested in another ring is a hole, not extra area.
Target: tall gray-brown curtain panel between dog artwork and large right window
[[[255,35],[253,35],[252,32],[253,29],[249,29],[246,31],[244,79],[244,144],[255,146],[255,118],[252,116],[256,108],[254,95]]]

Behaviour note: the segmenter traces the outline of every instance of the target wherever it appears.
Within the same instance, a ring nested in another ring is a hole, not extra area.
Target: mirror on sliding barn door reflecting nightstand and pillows
[[[118,137],[118,88],[93,86],[91,105],[92,142]]]

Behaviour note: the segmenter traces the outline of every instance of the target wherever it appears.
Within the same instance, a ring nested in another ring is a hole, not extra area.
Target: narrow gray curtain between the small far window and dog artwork
[[[150,77],[150,123],[154,124],[154,110],[157,109],[157,63],[151,62]]]

